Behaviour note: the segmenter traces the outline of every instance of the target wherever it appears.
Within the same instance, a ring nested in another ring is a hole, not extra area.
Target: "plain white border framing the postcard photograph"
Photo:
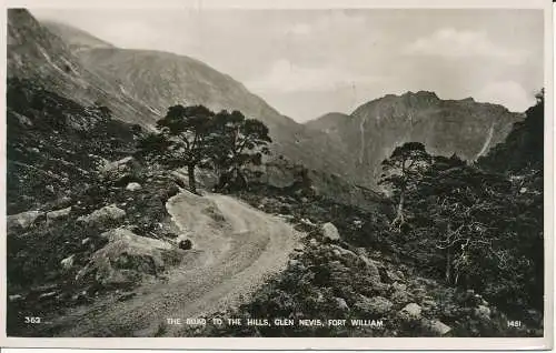
[[[547,350],[553,347],[554,330],[554,87],[553,87],[553,13],[549,0],[3,0],[0,40],[6,41],[6,8],[197,8],[197,9],[543,9],[545,11],[545,336],[540,339],[467,339],[467,337],[316,337],[316,339],[28,339],[7,337],[6,320],[0,321],[0,346],[80,347],[80,349],[201,349],[201,350]],[[6,121],[6,44],[0,43],[2,84],[1,114]],[[0,127],[0,169],[6,170],[6,128]],[[6,194],[6,173],[0,173],[0,194]],[[6,234],[6,198],[0,201],[0,234]],[[6,236],[0,243],[0,275],[6,279]],[[0,283],[0,313],[6,312],[6,282]]]

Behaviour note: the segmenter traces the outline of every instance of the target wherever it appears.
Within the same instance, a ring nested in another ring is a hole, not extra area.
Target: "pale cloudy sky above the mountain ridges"
[[[192,57],[297,121],[434,91],[525,111],[544,82],[543,12],[509,9],[37,9],[127,49]]]

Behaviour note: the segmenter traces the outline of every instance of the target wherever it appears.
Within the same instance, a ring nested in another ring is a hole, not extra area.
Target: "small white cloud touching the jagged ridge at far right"
[[[535,103],[533,93],[515,81],[490,82],[485,85],[475,97],[477,101],[497,103],[510,111],[524,112]]]

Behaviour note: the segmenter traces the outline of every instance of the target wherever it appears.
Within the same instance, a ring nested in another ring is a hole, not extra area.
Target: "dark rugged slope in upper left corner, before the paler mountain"
[[[81,63],[64,40],[43,27],[28,10],[8,10],[7,42],[9,79],[32,81],[79,104],[102,102],[116,117],[128,122],[146,124],[152,120],[149,107],[113,91],[103,78]]]

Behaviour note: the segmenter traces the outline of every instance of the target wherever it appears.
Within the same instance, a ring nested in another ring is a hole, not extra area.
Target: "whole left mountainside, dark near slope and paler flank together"
[[[48,78],[58,75],[57,80],[68,89],[60,90],[44,82],[47,88],[77,101],[100,100],[115,111],[115,118],[147,127],[161,118],[168,107],[178,103],[203,104],[215,111],[240,110],[268,125],[276,155],[300,161],[314,170],[346,175],[347,154],[326,133],[280,114],[231,77],[196,59],[115,48],[66,24],[44,22],[41,26],[26,10],[10,10],[9,17],[10,34],[19,34],[19,40],[13,40],[9,49],[14,52],[9,54],[10,71],[18,77],[37,74],[44,60],[50,63],[50,58],[59,58],[58,61],[70,62],[71,68],[76,68],[70,73],[77,73],[68,75],[60,69],[61,64],[53,62],[47,67]],[[17,56],[19,47],[37,52],[31,61],[39,64],[22,64],[23,54]],[[76,88],[78,82],[87,89]],[[83,90],[89,94],[82,93]],[[105,94],[99,98],[100,93]]]

